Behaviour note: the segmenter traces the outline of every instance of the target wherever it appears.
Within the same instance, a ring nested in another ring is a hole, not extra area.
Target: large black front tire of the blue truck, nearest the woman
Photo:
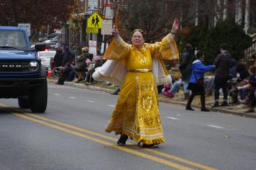
[[[30,109],[32,112],[43,113],[47,107],[47,80],[42,82],[41,85],[34,88],[29,96]]]

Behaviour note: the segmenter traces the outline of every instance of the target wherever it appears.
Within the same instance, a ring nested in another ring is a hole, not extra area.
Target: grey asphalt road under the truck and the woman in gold
[[[45,114],[0,99],[0,170],[256,169],[256,119],[160,103],[165,143],[119,147],[105,133],[117,97],[49,84]]]

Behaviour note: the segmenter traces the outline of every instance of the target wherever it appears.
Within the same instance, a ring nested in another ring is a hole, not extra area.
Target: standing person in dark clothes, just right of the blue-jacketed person
[[[214,61],[216,73],[214,78],[214,105],[219,107],[219,89],[223,91],[222,106],[227,106],[227,80],[230,78],[230,69],[236,65],[236,61],[227,52],[227,44],[223,43],[219,46],[220,53]]]

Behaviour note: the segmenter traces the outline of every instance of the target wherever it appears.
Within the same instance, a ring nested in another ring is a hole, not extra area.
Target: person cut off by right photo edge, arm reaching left
[[[245,89],[249,88],[250,94],[249,94],[249,100],[250,100],[250,108],[246,110],[246,112],[255,112],[255,106],[256,106],[256,66],[250,66],[249,72],[251,73],[249,77],[249,83],[244,86],[239,86],[237,89]]]

